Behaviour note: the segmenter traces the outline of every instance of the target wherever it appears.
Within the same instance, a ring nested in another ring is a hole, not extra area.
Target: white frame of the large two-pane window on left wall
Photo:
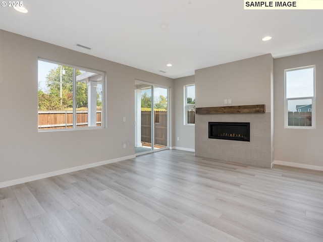
[[[37,59],[37,70],[38,70],[38,61],[41,62],[47,62],[47,63],[51,63],[51,64],[56,64],[56,65],[61,65],[61,66],[68,66],[73,68],[73,110],[72,110],[72,114],[73,114],[73,128],[70,129],[39,129],[38,125],[37,125],[37,130],[38,132],[57,132],[57,131],[75,131],[75,130],[97,130],[97,129],[106,129],[106,111],[105,111],[105,106],[106,106],[106,75],[105,72],[103,71],[98,71],[98,70],[94,70],[94,69],[90,69],[90,68],[84,68],[84,67],[79,67],[76,65],[70,65],[70,64],[66,64],[66,63],[62,63],[62,62],[56,62],[56,61],[51,61],[49,59],[45,59],[45,58],[38,58]],[[102,75],[102,107],[101,107],[101,126],[86,126],[86,127],[77,127],[77,114],[76,114],[76,108],[77,105],[75,105],[77,103],[76,98],[76,85],[77,85],[77,80],[76,80],[76,70],[82,70],[82,71],[86,71],[86,72],[92,72],[95,74],[99,74]],[[38,77],[37,77],[37,82],[39,82]],[[37,87],[38,89],[38,87]],[[37,98],[37,106],[38,106],[38,98]],[[37,124],[39,122],[38,117],[39,117],[39,110],[37,110]]]

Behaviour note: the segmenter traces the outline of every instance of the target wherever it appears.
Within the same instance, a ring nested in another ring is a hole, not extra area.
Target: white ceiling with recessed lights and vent
[[[243,0],[23,4],[27,14],[0,7],[1,29],[170,78],[266,53],[275,58],[323,49],[322,10],[243,10]],[[261,41],[266,35],[272,40]]]

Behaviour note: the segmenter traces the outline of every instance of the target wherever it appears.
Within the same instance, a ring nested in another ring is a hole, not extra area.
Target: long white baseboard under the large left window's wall
[[[28,183],[29,181],[33,181],[33,180],[39,180],[39,179],[43,179],[43,178],[47,178],[47,177],[55,176],[55,175],[62,175],[62,174],[66,174],[66,173],[73,172],[73,171],[83,170],[83,169],[87,169],[87,168],[91,168],[91,167],[95,167],[95,166],[100,166],[100,165],[106,165],[106,164],[110,164],[110,163],[114,163],[114,162],[118,162],[118,161],[122,161],[122,160],[128,160],[128,159],[132,159],[132,158],[136,158],[136,156],[129,155],[129,156],[124,156],[124,157],[115,158],[115,159],[111,159],[111,160],[104,160],[104,161],[99,161],[99,162],[90,163],[90,164],[86,164],[86,165],[71,167],[71,168],[67,168],[67,169],[63,169],[63,170],[56,170],[56,171],[43,173],[43,174],[39,174],[39,175],[28,176],[28,177],[24,177],[24,178],[20,178],[20,179],[16,179],[16,180],[4,181],[3,183],[0,183],[0,188],[10,187],[10,186],[14,186],[14,185],[22,184],[22,183]]]

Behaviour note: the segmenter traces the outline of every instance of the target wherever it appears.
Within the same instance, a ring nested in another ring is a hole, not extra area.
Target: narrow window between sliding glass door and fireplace
[[[184,124],[195,124],[195,85],[184,86]]]

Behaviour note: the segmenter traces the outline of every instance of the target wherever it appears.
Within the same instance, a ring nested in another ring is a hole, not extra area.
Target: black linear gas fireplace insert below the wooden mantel
[[[208,138],[250,142],[250,123],[208,122]]]

